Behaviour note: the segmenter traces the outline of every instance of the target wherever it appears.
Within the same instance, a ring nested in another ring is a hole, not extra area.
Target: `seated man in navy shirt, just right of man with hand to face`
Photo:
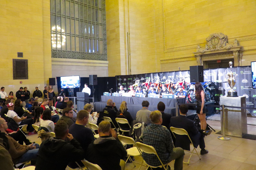
[[[86,152],[89,144],[95,140],[93,132],[86,128],[88,122],[89,113],[85,110],[78,112],[75,124],[72,124],[69,128],[69,133],[80,143],[83,150]],[[82,162],[79,164],[83,167]],[[71,168],[78,168],[75,163],[69,164]]]

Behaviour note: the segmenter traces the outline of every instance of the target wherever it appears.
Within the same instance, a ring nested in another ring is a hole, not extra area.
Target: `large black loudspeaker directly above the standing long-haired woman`
[[[203,66],[190,66],[190,82],[203,81]]]

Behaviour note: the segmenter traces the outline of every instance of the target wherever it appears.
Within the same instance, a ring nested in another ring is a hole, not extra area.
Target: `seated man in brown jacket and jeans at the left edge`
[[[13,163],[19,164],[30,160],[36,160],[39,145],[37,143],[32,143],[29,146],[20,145],[16,140],[6,133],[7,129],[7,122],[3,118],[0,118],[0,131],[5,133],[5,136],[8,138],[8,143],[10,146],[8,152],[12,157]],[[31,164],[34,165],[35,162],[31,161]]]

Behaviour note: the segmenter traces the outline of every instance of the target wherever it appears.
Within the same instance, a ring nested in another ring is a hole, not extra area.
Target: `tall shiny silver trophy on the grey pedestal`
[[[228,85],[231,88],[228,91],[227,97],[238,97],[237,96],[237,92],[233,89],[234,85],[236,84],[236,81],[237,81],[237,78],[238,78],[238,74],[232,73],[232,64],[233,64],[232,62],[229,62],[230,72],[225,75],[225,77],[226,77],[226,79],[228,81]]]

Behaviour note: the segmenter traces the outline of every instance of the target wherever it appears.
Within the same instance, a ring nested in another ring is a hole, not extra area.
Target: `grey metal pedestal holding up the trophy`
[[[245,107],[246,106],[246,97],[239,96],[234,97],[230,100],[230,97],[222,96],[219,98],[220,105],[226,106],[237,106]],[[247,134],[247,117],[246,109],[241,108],[230,108],[225,107],[225,135],[243,137],[244,134]],[[221,132],[223,134],[223,120],[221,119]]]

